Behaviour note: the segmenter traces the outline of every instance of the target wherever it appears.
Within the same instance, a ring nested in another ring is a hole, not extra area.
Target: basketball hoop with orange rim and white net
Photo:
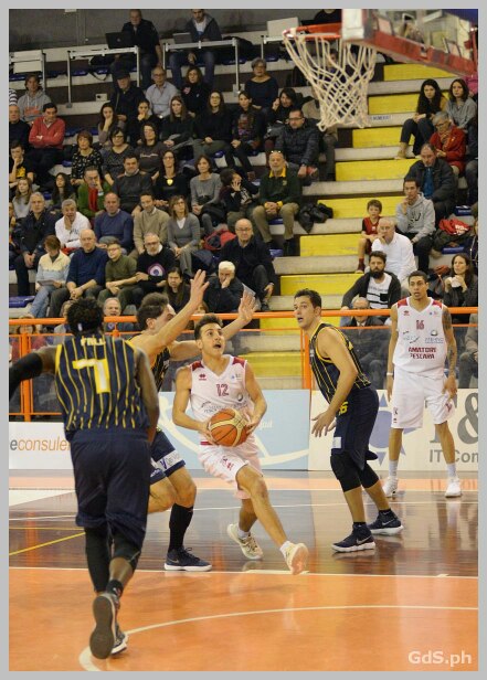
[[[341,24],[287,29],[284,44],[292,60],[313,86],[319,102],[320,130],[334,125],[369,125],[368,85],[375,67],[377,50],[341,40]],[[336,49],[338,57],[331,54]]]

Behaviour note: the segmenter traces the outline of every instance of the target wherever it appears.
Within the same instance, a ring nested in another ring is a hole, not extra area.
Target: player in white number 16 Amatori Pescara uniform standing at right
[[[421,427],[426,404],[435,425],[448,469],[446,498],[462,496],[455,465],[455,443],[448,427],[456,394],[456,341],[448,308],[427,297],[427,277],[413,272],[407,277],[411,296],[391,308],[388,358],[388,397],[392,423],[389,436],[388,497],[398,490],[398,461],[404,427]],[[448,376],[445,379],[445,361]],[[392,397],[392,400],[391,400]]]

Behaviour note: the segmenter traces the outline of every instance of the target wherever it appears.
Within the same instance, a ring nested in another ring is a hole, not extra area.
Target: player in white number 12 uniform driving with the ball
[[[241,499],[239,523],[229,524],[227,533],[247,560],[261,560],[262,549],[251,533],[258,519],[279,548],[293,574],[306,569],[308,549],[304,543],[288,541],[279,518],[271,504],[258,463],[258,449],[253,432],[267,410],[254,372],[243,359],[224,354],[225,338],[222,321],[205,315],[194,327],[194,339],[202,359],[180,369],[176,379],[172,419],[176,425],[200,433],[199,459],[214,477],[235,485]],[[186,411],[189,403],[193,416]],[[211,416],[225,407],[243,411],[248,417],[248,437],[234,447],[218,446],[209,431]]]

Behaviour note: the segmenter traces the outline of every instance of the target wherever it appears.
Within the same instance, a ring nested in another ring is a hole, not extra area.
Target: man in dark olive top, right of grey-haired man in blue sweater
[[[133,304],[131,293],[136,285],[137,262],[134,257],[124,255],[118,238],[114,238],[106,248],[108,259],[105,265],[105,289],[98,295],[98,302],[105,304],[109,297],[115,297],[120,302],[124,314],[127,305]]]

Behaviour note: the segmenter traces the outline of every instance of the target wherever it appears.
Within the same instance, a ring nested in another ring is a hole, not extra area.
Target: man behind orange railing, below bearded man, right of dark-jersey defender
[[[362,311],[370,309],[369,300],[364,297],[356,298],[352,302],[352,309]],[[371,327],[380,327],[381,330],[370,330]],[[362,369],[372,385],[375,390],[382,390],[388,365],[389,330],[384,329],[379,317],[362,315],[347,317],[342,328],[346,336],[351,340]]]

